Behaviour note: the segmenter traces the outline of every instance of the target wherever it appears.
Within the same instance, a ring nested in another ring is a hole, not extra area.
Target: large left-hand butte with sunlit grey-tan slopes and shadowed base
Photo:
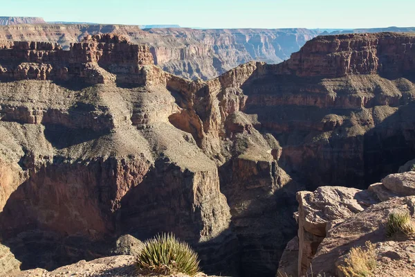
[[[185,93],[190,82],[153,66],[146,49],[105,35],[71,51],[0,50],[1,238],[22,269],[91,260],[118,235],[161,231],[217,251],[203,259],[208,269],[232,264],[233,249],[221,251],[235,238],[216,163],[169,123],[181,108],[167,83]],[[16,73],[26,62],[50,71]]]

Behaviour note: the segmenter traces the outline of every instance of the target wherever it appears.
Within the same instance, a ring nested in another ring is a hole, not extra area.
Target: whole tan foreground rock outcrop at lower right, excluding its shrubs
[[[378,269],[375,276],[413,276],[415,257],[412,238],[387,238],[389,213],[400,211],[414,216],[414,197],[405,191],[414,183],[412,172],[388,175],[368,190],[321,187],[315,192],[299,192],[298,275],[326,274],[343,276],[342,265],[351,247],[376,244]],[[402,193],[396,193],[402,192]],[[414,194],[412,194],[414,195]],[[415,219],[415,217],[413,217]],[[292,247],[291,247],[292,248]],[[291,253],[288,246],[284,256]],[[280,271],[286,267],[280,264]],[[291,269],[293,272],[293,269]],[[389,274],[389,275],[388,275]],[[409,275],[408,275],[409,274]]]

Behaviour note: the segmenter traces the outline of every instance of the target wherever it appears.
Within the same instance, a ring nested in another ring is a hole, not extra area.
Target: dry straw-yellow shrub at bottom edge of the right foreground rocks
[[[376,269],[376,251],[374,244],[366,242],[366,249],[353,247],[344,260],[344,265],[338,267],[346,277],[369,277],[374,276]]]

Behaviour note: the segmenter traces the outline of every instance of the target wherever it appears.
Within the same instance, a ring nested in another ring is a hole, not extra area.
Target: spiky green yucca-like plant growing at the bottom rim
[[[189,244],[177,240],[172,233],[163,233],[145,242],[137,257],[137,267],[156,274],[194,276],[199,272],[199,258]]]

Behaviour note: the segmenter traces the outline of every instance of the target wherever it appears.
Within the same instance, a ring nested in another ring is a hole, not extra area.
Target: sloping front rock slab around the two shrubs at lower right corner
[[[314,274],[342,276],[335,265],[351,247],[362,247],[369,241],[375,244],[378,258],[374,276],[415,276],[411,258],[414,240],[400,235],[388,239],[385,229],[389,213],[410,213],[414,200],[414,197],[398,197],[375,204],[330,229],[311,263]],[[410,214],[414,220],[414,214]]]

